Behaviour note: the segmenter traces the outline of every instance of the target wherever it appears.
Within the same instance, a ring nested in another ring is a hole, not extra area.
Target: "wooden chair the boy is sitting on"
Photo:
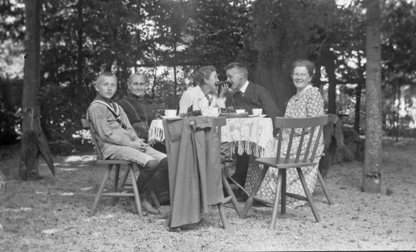
[[[133,163],[129,162],[129,161],[123,161],[123,160],[107,160],[107,159],[104,160],[103,155],[101,154],[101,150],[98,147],[98,144],[96,142],[96,139],[94,137],[92,129],[89,125],[89,120],[81,119],[81,123],[83,123],[83,127],[85,129],[89,129],[89,133],[91,134],[92,141],[94,142],[94,145],[96,147],[97,157],[98,157],[98,159],[96,161],[96,164],[97,165],[107,165],[107,170],[105,171],[103,180],[101,181],[100,188],[98,188],[98,192],[96,193],[94,203],[92,204],[92,207],[89,210],[89,217],[92,217],[94,215],[94,213],[96,212],[96,208],[98,206],[98,202],[100,201],[101,196],[113,197],[112,202],[111,202],[112,206],[116,205],[116,201],[119,197],[135,197],[137,215],[139,215],[139,217],[143,217],[143,213],[142,213],[142,210],[141,210],[140,195],[139,195],[139,190],[137,188],[136,175],[135,175],[135,170],[133,168]],[[121,187],[119,188],[120,165],[123,165],[123,164],[128,165],[128,172],[125,173],[125,175],[124,175],[124,177],[121,181]],[[110,172],[112,171],[112,168],[113,168],[114,165],[116,166],[116,171],[115,171],[115,175],[114,175],[113,192],[103,192],[104,187],[105,187],[105,183],[107,182],[108,177],[110,176]],[[128,192],[130,190],[129,188],[124,187],[125,186],[125,181],[126,181],[129,173],[130,173],[130,177],[131,177],[133,193]],[[151,193],[150,193],[150,196],[153,199],[153,196],[151,195]],[[159,203],[159,202],[157,201],[157,203]]]

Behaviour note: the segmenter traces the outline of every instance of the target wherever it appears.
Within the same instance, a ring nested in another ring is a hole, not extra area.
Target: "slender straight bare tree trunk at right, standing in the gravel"
[[[365,161],[363,192],[381,192],[381,39],[380,2],[367,1],[367,64],[365,68]]]

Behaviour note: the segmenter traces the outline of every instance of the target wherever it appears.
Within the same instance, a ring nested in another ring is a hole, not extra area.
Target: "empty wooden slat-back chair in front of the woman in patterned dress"
[[[316,150],[318,149],[318,145],[320,143],[320,138],[322,136],[322,128],[323,125],[327,123],[328,116],[318,116],[318,117],[309,117],[309,118],[275,118],[275,127],[279,128],[279,137],[277,142],[277,154],[275,157],[265,157],[256,159],[256,163],[263,165],[263,170],[259,178],[254,185],[248,200],[245,203],[242,216],[243,218],[247,215],[248,210],[250,210],[252,206],[253,199],[260,201],[262,203],[272,204],[273,211],[272,211],[272,221],[270,222],[269,229],[275,229],[276,219],[277,219],[277,208],[279,206],[279,196],[281,197],[281,215],[286,214],[286,196],[293,197],[295,199],[300,199],[309,202],[309,206],[311,206],[311,210],[313,216],[315,217],[316,222],[320,222],[320,217],[318,214],[318,210],[316,210],[315,203],[309,192],[309,189],[306,186],[306,181],[304,179],[304,174],[302,172],[302,167],[308,166],[315,166],[318,163],[313,162],[315,159]],[[313,141],[313,136],[315,135],[316,128],[318,127],[318,135]],[[310,128],[310,131],[308,130]],[[281,142],[283,140],[283,129],[291,129],[291,134],[288,140],[288,147],[287,150],[281,150]],[[295,136],[295,129],[302,129],[302,134],[300,136],[300,143],[297,147],[297,152],[295,159],[291,158],[291,147],[293,143],[293,137]],[[306,151],[302,153],[303,159],[301,158],[302,147],[304,145],[304,136],[309,134],[309,141],[306,143]],[[313,143],[314,142],[314,143]],[[311,155],[310,151],[312,148]],[[277,175],[277,186],[276,186],[276,193],[275,193],[275,201],[272,203],[271,201],[267,201],[265,199],[261,199],[256,197],[257,191],[261,186],[261,182],[263,181],[269,167],[279,169]],[[292,193],[286,192],[286,169],[296,169],[297,174],[299,175],[300,181],[302,183],[302,187],[304,188],[304,192],[306,197],[301,195],[295,195]],[[323,182],[322,176],[318,175],[318,179],[320,178],[320,182]],[[322,179],[322,181],[321,181]]]

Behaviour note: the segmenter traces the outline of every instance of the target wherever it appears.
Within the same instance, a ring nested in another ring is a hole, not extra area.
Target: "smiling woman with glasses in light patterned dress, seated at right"
[[[315,66],[309,60],[297,60],[292,65],[292,80],[293,84],[295,85],[297,92],[295,96],[289,100],[288,105],[286,107],[286,113],[284,117],[288,118],[300,118],[300,117],[313,117],[313,116],[323,116],[324,115],[324,100],[320,94],[318,88],[313,87],[311,84],[311,80],[313,77],[313,73],[315,71]],[[301,132],[301,130],[300,130]],[[283,133],[283,141],[281,150],[286,151],[288,146],[289,140],[289,130]],[[314,138],[316,137],[316,133],[314,134]],[[302,147],[302,152],[306,150],[306,145],[309,141],[309,134],[305,135],[304,138],[304,146]],[[300,143],[300,136],[293,137],[293,143],[291,148],[291,157],[295,158],[297,147]],[[314,142],[313,142],[314,143]],[[320,138],[320,144],[318,145],[318,150],[315,155],[315,160],[313,162],[319,163],[320,156],[324,150],[324,143],[322,137]],[[266,155],[265,156],[275,156],[277,153],[277,139],[272,139],[268,143],[268,147],[266,147]],[[301,156],[302,159],[302,156]],[[259,169],[257,169],[259,170]],[[260,171],[260,170],[259,170]],[[270,201],[274,201],[275,199],[275,192],[276,192],[276,183],[277,183],[277,169],[269,168],[266,177],[261,183],[261,187],[259,192],[257,192],[257,197],[261,197],[263,199],[268,199]],[[302,168],[302,172],[304,173],[304,177],[308,186],[309,191],[311,194],[313,193],[313,189],[315,188],[315,181],[318,172],[318,165],[315,167],[306,167]],[[286,191],[291,192],[297,195],[305,196],[304,190],[302,188],[302,184],[300,183],[299,176],[297,175],[296,169],[287,169],[286,170]],[[254,183],[252,183],[254,186]],[[252,189],[247,188],[250,192]],[[297,199],[293,199],[291,197],[286,198],[287,206],[300,206],[305,204],[306,201],[300,201]]]

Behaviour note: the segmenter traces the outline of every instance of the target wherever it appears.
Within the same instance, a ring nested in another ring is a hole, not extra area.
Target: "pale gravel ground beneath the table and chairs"
[[[8,181],[1,195],[0,251],[333,251],[416,250],[416,141],[384,141],[383,194],[361,192],[363,163],[333,165],[327,186],[313,197],[322,222],[308,206],[286,210],[275,231],[268,230],[272,208],[256,207],[239,219],[225,208],[229,231],[211,207],[202,222],[181,232],[164,228],[162,215],[139,218],[121,199],[103,199],[88,217],[104,172],[94,155],[55,156],[56,177],[42,163],[40,181],[16,179],[18,150],[0,149],[0,170]],[[241,203],[241,207],[243,204]]]

